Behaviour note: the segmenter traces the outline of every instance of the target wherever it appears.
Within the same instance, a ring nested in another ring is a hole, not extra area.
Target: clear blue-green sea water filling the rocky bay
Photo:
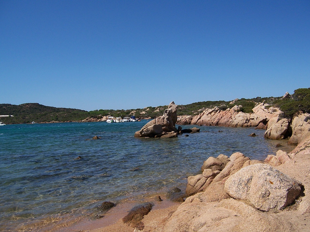
[[[147,123],[64,122],[0,127],[0,231],[51,231],[89,217],[103,201],[164,194],[201,173],[203,162],[241,152],[263,161],[286,141],[255,128],[207,127],[170,139],[135,138]],[[256,137],[248,136],[255,133]],[[98,140],[92,138],[97,135]],[[46,228],[49,228],[48,230]]]

